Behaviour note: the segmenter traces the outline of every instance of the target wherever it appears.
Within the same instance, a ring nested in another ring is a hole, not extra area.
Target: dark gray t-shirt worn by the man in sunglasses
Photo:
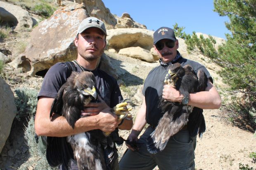
[[[180,58],[178,61],[182,66],[187,64],[191,65],[193,70],[197,73],[199,69],[204,70],[207,77],[213,82],[213,79],[208,72],[208,70],[201,65],[192,60],[186,58]],[[159,96],[163,93],[164,88],[164,79],[167,74],[167,67],[159,65],[149,72],[147,78],[145,79],[143,95],[145,96],[146,102],[146,121],[152,126],[157,126],[159,119],[163,116],[164,113],[158,108]]]

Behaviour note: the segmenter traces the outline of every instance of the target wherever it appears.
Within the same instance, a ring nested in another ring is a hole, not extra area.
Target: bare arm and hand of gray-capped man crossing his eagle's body
[[[117,116],[110,112],[110,108],[103,109],[95,116],[82,117],[72,128],[64,116],[53,114],[50,119],[50,110],[53,98],[43,97],[38,100],[35,119],[37,135],[64,137],[93,129],[111,132],[118,126]]]

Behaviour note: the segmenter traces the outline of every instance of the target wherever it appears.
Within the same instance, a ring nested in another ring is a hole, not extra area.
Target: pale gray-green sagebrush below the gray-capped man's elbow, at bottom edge
[[[33,170],[57,170],[57,168],[50,167],[47,163],[46,156],[40,151],[39,145],[36,143],[33,114],[30,115],[24,138],[29,147],[30,158],[23,163],[18,170],[28,170],[31,169],[31,167]]]

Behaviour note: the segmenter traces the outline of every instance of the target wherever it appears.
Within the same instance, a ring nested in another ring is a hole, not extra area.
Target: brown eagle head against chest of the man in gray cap
[[[75,87],[81,94],[81,97],[92,96],[97,99],[97,92],[95,88],[96,79],[92,72],[81,72],[75,79]]]

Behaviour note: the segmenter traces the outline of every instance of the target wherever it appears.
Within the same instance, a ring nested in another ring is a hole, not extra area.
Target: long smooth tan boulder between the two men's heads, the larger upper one
[[[109,49],[120,49],[128,47],[141,47],[150,49],[153,47],[153,31],[142,28],[117,28],[107,30],[107,43]]]

